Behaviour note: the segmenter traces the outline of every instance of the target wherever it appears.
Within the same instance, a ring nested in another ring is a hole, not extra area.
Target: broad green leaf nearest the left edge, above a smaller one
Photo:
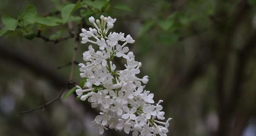
[[[4,14],[2,16],[2,22],[6,29],[14,31],[18,25],[18,20],[12,18],[10,15]]]

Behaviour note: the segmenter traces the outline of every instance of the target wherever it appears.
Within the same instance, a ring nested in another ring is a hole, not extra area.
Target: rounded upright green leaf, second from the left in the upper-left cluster
[[[37,21],[37,9],[35,8],[35,6],[28,5],[26,7],[23,19],[30,23],[34,23]]]

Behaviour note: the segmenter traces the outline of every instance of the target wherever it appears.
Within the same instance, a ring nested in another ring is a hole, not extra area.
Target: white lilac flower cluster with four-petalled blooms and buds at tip
[[[99,128],[100,134],[109,128],[124,129],[127,134],[132,131],[133,136],[166,136],[168,122],[172,118],[166,122],[159,121],[165,119],[165,112],[161,111],[160,105],[163,101],[153,105],[154,94],[144,90],[145,85],[142,85],[147,84],[148,76],[142,79],[136,77],[140,73],[141,63],[135,61],[133,53],[125,47],[128,43],[134,43],[132,37],[125,37],[122,32],[108,34],[115,21],[111,17],[101,16],[96,21],[94,17],[90,17],[89,22],[96,29],[82,29],[81,43],[96,44],[100,50],[95,52],[90,45],[89,50],[83,53],[86,64],[79,64],[82,72],[80,76],[87,80],[83,88],[77,86],[76,94],[82,101],[88,99],[93,108],[100,106],[100,115],[92,122]],[[115,70],[116,66],[112,62],[114,57],[125,58],[126,69]]]

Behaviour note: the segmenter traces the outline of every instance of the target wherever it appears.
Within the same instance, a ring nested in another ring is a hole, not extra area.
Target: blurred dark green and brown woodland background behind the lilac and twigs
[[[111,0],[110,5],[118,2],[130,9],[110,6],[103,14],[117,19],[114,31],[135,39],[128,46],[142,63],[139,77],[149,76],[146,89],[155,101],[164,101],[165,117],[173,118],[168,136],[256,136],[255,0]],[[60,17],[58,9],[66,3],[76,1],[0,0],[0,16],[17,18],[33,4],[40,15]],[[71,23],[79,33],[77,22]],[[67,26],[48,27],[42,35],[54,41],[67,35]],[[75,95],[17,116],[68,90],[71,66],[57,67],[71,62],[75,39],[51,42],[43,36],[28,40],[15,31],[0,37],[0,135],[98,136],[90,123],[97,109]],[[87,49],[78,45],[76,62],[83,62]],[[124,67],[124,60],[114,63]],[[79,73],[75,65],[76,84]]]

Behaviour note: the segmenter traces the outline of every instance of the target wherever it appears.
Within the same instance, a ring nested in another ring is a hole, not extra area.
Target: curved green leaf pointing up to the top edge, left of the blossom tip
[[[80,0],[77,1],[76,4],[68,4],[65,7],[63,7],[61,10],[61,17],[62,17],[63,24],[66,23],[70,15],[80,7],[81,7]]]

